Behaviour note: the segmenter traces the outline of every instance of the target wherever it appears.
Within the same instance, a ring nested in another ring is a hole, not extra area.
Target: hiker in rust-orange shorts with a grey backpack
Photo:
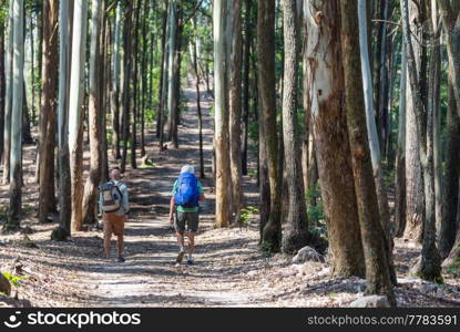
[[[119,262],[124,262],[124,224],[127,221],[130,212],[130,200],[127,187],[121,181],[119,168],[113,168],[110,173],[111,180],[99,187],[99,207],[104,222],[104,251],[105,258],[110,258],[112,234],[116,236]]]

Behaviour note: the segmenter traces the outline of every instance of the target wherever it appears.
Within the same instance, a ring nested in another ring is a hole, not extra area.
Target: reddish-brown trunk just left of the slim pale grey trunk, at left
[[[47,222],[54,198],[54,147],[58,91],[58,0],[43,2],[43,77],[42,108],[40,115],[40,190],[39,222]]]

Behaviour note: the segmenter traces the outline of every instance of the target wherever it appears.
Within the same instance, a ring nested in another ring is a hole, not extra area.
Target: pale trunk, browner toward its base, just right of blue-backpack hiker
[[[214,89],[215,89],[215,153],[216,153],[216,226],[227,227],[231,221],[228,186],[231,180],[228,154],[228,116],[225,107],[225,2],[213,4],[214,25]],[[171,48],[174,50],[175,48]],[[170,92],[171,95],[171,92]]]

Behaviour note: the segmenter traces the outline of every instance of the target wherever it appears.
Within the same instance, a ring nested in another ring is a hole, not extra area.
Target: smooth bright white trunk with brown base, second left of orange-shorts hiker
[[[72,230],[83,224],[83,117],[84,63],[86,54],[88,0],[75,0],[73,11],[72,63],[69,100],[69,151],[72,187]]]

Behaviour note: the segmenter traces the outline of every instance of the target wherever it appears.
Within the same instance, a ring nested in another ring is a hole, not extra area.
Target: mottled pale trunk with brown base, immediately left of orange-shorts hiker
[[[83,194],[83,224],[96,221],[98,186],[101,181],[102,172],[102,146],[101,146],[101,76],[100,70],[103,65],[100,61],[100,33],[102,22],[103,1],[92,2],[91,9],[91,44],[89,59],[89,131],[90,131],[90,174],[84,185]]]

